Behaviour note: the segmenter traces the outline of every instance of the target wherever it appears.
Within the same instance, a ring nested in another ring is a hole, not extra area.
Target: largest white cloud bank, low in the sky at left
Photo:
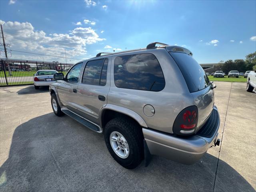
[[[8,36],[8,41],[12,42],[12,49],[22,50],[26,52],[34,52],[39,54],[47,54],[52,56],[37,56],[24,55],[17,52],[12,52],[14,59],[30,59],[30,60],[58,60],[64,62],[62,58],[54,56],[66,56],[76,58],[86,55],[86,44],[94,44],[105,40],[100,38],[94,29],[89,28],[74,28],[70,33],[64,34],[46,34],[44,31],[36,30],[29,22],[4,22],[4,33]],[[78,60],[72,60],[77,62]]]

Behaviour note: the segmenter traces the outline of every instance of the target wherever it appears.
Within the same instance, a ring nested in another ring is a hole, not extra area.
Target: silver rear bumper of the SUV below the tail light
[[[216,106],[214,106],[214,110],[218,112]],[[217,114],[219,117],[219,113]],[[150,154],[162,156],[183,164],[193,164],[216,143],[219,126],[220,118],[216,122],[214,134],[210,138],[199,135],[181,138],[147,128],[142,128],[142,131]]]

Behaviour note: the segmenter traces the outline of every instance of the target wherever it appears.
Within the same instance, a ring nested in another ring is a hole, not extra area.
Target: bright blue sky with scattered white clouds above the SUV
[[[56,56],[66,50],[70,58],[154,41],[184,46],[199,63],[243,59],[256,51],[256,1],[1,0],[0,20],[12,50]],[[63,62],[21,52],[12,58]]]

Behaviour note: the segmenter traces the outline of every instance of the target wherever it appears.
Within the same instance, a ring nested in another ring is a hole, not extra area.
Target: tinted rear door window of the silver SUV
[[[106,85],[108,58],[88,61],[84,69],[82,83]]]

